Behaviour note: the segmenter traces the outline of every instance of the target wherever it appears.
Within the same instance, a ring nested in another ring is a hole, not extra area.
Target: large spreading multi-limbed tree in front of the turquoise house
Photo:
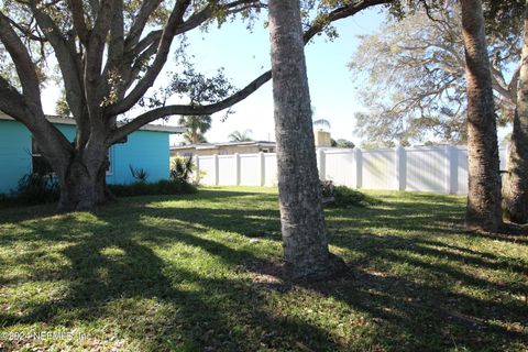
[[[317,16],[306,19],[304,42],[327,31],[332,21],[387,2],[317,1]],[[315,3],[307,2],[308,10]],[[252,10],[264,7],[265,1],[258,0],[3,1],[0,110],[33,134],[58,178],[59,207],[81,210],[105,202],[109,196],[105,187],[108,148],[130,133],[168,116],[221,111],[268,81],[271,72],[232,94],[222,89],[229,85],[221,75],[204,79],[186,69],[173,77],[167,92],[185,96],[189,103],[167,105],[163,99],[145,98],[178,38],[215,20],[221,23],[237,13],[252,15]],[[45,119],[42,107],[45,61],[52,53],[77,124],[74,144]],[[211,81],[220,82],[221,89],[211,92]],[[138,107],[143,112],[134,114]],[[121,119],[125,113],[128,119]]]

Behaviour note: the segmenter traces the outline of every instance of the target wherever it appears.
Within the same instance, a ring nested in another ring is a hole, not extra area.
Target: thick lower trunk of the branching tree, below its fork
[[[113,199],[107,189],[108,168],[106,148],[78,153],[61,166],[61,211],[92,210],[96,206]]]

